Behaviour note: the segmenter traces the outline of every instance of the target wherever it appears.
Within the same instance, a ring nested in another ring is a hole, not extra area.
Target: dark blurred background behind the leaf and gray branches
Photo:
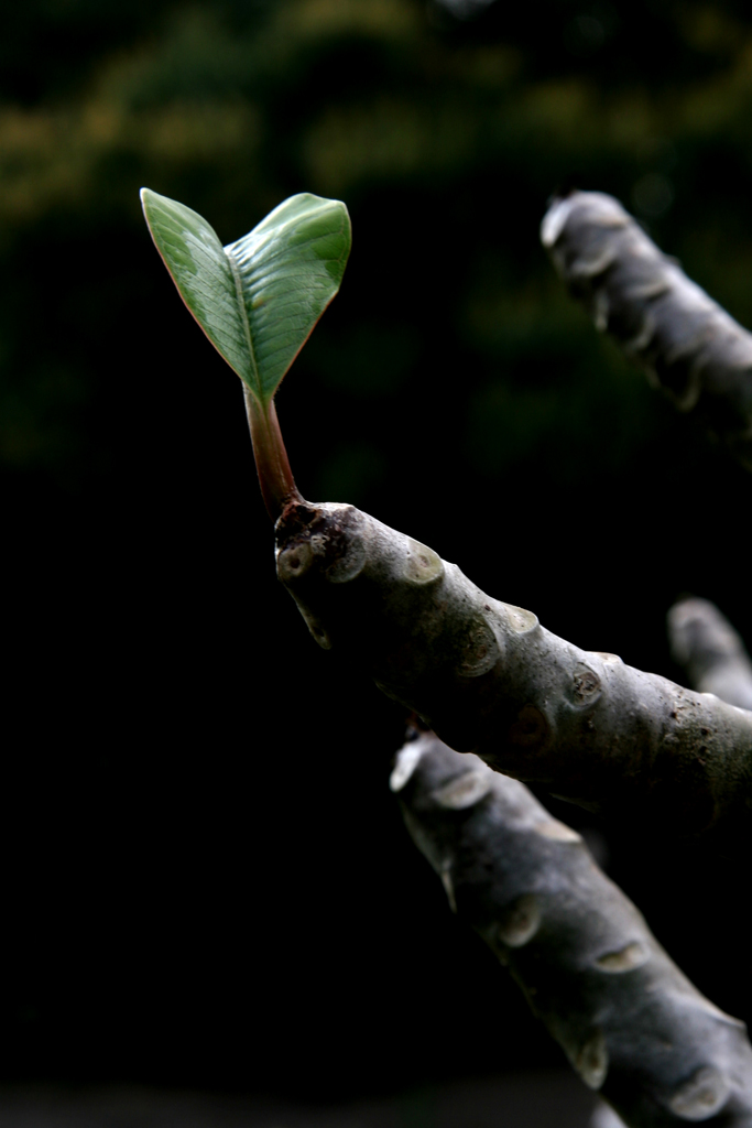
[[[404,714],[276,585],[238,380],[138,190],[223,241],[293,192],[345,200],[340,296],[278,396],[303,494],[680,678],[679,593],[752,638],[749,476],[599,337],[538,226],[564,180],[611,192],[752,324],[751,58],[719,0],[6,14],[3,1079],[331,1100],[563,1061],[407,838]],[[749,880],[600,831],[752,1014]]]

